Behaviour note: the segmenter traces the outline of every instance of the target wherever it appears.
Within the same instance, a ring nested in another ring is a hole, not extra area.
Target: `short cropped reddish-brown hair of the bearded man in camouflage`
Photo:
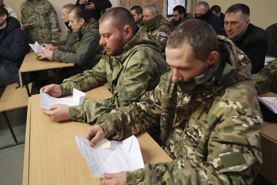
[[[132,28],[133,34],[135,34],[136,23],[131,12],[123,7],[116,7],[106,11],[99,19],[98,23],[110,21],[109,23],[116,27],[120,32],[126,25]]]

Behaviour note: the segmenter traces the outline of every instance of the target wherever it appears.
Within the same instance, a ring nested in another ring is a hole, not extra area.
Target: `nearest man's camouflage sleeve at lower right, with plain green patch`
[[[262,164],[262,122],[260,113],[249,112],[222,120],[209,138],[207,159],[199,165],[186,159],[146,164],[127,172],[126,184],[251,184]]]

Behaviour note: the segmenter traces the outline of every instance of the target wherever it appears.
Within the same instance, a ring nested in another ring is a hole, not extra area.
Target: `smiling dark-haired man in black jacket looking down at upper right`
[[[251,73],[258,73],[264,67],[267,50],[265,30],[250,24],[250,10],[245,4],[234,4],[225,12],[224,29],[218,35],[228,36],[250,59]]]

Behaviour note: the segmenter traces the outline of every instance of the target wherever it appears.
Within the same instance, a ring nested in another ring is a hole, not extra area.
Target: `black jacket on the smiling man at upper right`
[[[218,30],[217,34],[227,37],[224,28]],[[250,23],[243,36],[239,40],[233,42],[250,59],[252,65],[251,74],[258,73],[263,69],[267,50],[267,36],[265,30]]]

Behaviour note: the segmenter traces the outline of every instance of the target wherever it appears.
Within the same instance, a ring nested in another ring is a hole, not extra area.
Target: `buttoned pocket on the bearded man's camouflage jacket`
[[[121,88],[118,96],[121,101],[133,101],[141,97],[146,92],[143,82],[133,84],[127,88]]]

